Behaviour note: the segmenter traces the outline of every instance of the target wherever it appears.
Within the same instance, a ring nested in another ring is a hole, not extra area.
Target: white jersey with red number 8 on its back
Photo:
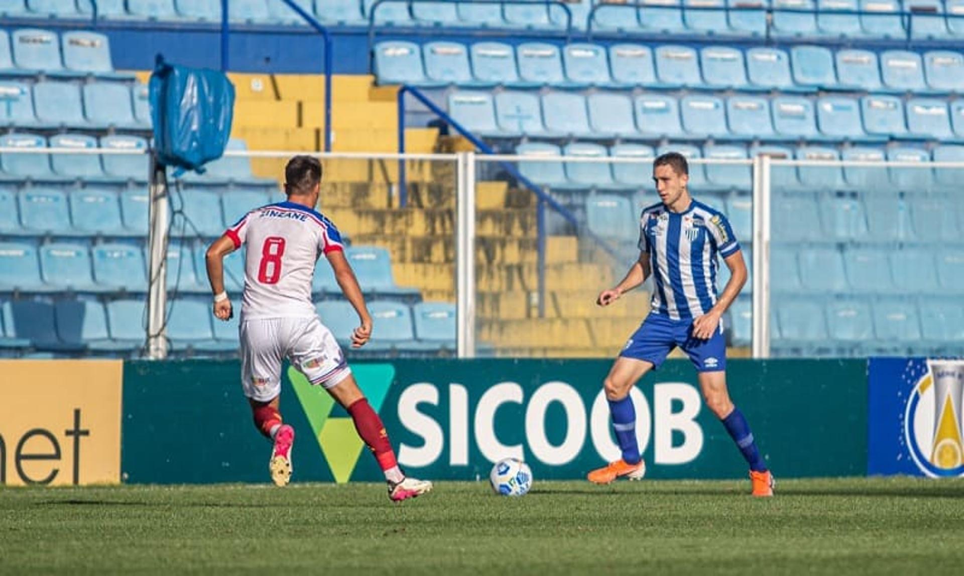
[[[242,320],[311,318],[311,278],[322,253],[344,249],[335,224],[310,208],[279,202],[252,210],[225,232],[248,245]]]

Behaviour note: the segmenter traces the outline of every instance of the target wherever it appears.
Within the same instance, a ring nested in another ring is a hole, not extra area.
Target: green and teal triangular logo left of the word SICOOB
[[[391,364],[357,364],[352,366],[352,373],[368,399],[368,404],[376,412],[381,411],[388,397],[391,381],[395,379],[395,367]],[[318,446],[332,469],[335,482],[348,482],[364,446],[362,438],[355,432],[355,424],[351,418],[332,417],[335,400],[324,388],[311,385],[308,379],[293,367],[288,368],[287,375],[298,401],[305,409],[311,431],[318,439]]]

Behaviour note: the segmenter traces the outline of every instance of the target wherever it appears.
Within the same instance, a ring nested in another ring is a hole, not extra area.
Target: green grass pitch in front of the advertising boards
[[[0,489],[0,574],[961,574],[964,479]]]

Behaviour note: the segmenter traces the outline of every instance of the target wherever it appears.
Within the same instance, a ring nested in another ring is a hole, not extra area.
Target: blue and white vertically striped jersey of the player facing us
[[[693,200],[682,214],[661,202],[643,210],[639,249],[649,253],[656,282],[652,307],[673,320],[689,320],[716,303],[716,255],[739,249],[726,217]]]

